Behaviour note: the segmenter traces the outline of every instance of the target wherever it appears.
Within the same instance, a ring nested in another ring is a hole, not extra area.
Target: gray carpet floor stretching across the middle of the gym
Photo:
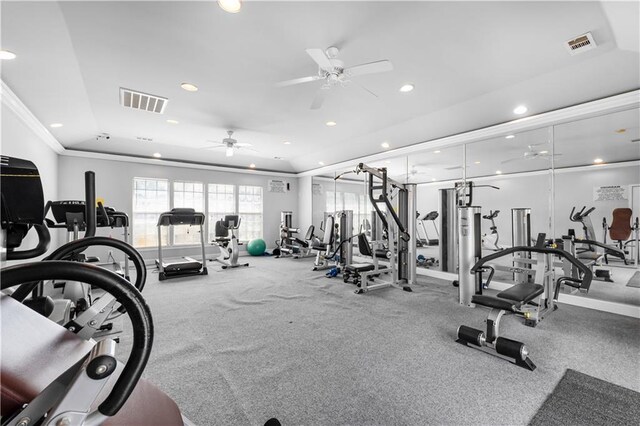
[[[449,283],[365,295],[311,271],[311,260],[158,282],[145,377],[199,425],[527,424],[567,368],[640,390],[640,321],[561,305],[536,328],[505,317],[534,372],[455,343],[487,311],[457,304]],[[151,271],[150,271],[151,272]],[[120,353],[129,351],[125,334]]]

